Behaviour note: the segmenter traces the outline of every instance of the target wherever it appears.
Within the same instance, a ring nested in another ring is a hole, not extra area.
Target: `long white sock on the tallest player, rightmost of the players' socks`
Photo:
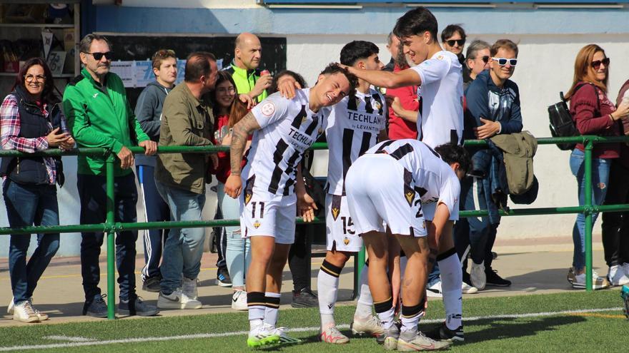
[[[450,253],[452,252],[452,253]],[[445,325],[448,329],[457,329],[461,326],[463,316],[461,285],[463,272],[461,262],[454,248],[445,253],[437,263],[441,271],[441,290],[443,293],[443,307],[445,309]]]

